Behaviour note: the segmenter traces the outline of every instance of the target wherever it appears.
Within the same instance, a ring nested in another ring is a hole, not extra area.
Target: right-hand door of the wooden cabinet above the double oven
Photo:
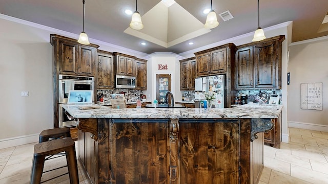
[[[78,74],[85,76],[93,75],[94,49],[87,46],[79,46]]]

